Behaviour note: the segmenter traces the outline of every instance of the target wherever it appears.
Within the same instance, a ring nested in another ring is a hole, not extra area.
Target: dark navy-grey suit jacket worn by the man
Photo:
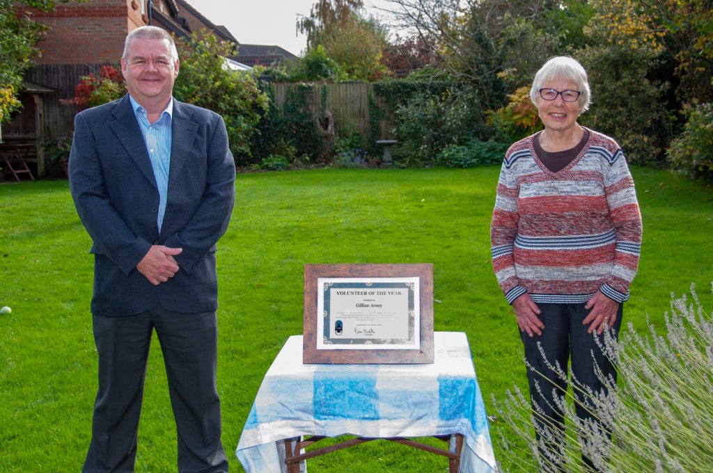
[[[173,100],[168,202],[158,232],[158,188],[128,95],[75,118],[72,198],[93,239],[91,311],[128,316],[217,308],[216,242],[235,204],[235,162],[220,115]],[[153,286],[136,270],[152,244],[183,248],[180,269]]]

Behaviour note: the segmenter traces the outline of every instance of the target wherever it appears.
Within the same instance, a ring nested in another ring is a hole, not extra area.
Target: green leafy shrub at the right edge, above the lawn
[[[713,179],[713,103],[686,109],[688,121],[667,152],[674,167],[692,177]]]

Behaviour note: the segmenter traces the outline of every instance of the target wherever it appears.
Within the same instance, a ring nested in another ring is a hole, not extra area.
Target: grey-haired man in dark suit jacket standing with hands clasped
[[[132,472],[149,345],[160,341],[180,472],[227,472],[220,441],[215,243],[235,203],[225,123],[173,100],[173,39],[126,38],[128,95],[78,114],[70,188],[93,239],[99,388],[83,472]]]

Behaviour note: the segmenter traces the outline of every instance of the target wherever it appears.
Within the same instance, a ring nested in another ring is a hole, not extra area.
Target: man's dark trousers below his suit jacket
[[[137,316],[93,317],[99,388],[85,473],[133,472],[143,385],[155,329],[178,430],[178,471],[227,472],[216,390],[215,311],[156,306]]]

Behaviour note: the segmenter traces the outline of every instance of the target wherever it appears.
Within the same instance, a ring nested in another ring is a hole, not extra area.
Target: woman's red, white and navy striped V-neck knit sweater
[[[590,130],[580,154],[550,172],[535,135],[506,153],[491,223],[493,270],[508,303],[583,303],[599,289],[622,303],[636,274],[641,214],[619,145]]]

